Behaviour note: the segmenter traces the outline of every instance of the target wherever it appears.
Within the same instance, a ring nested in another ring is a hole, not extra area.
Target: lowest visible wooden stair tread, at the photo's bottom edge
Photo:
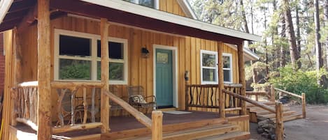
[[[204,138],[201,138],[201,139],[194,139],[194,140],[227,140],[227,139],[233,139],[233,138],[236,138],[236,137],[248,137],[250,135],[250,132],[229,132],[229,133],[226,133],[226,134],[220,134],[220,135],[217,135],[217,136],[211,136],[211,137],[204,137]],[[245,138],[243,138],[245,139]],[[248,139],[248,138],[246,138]]]

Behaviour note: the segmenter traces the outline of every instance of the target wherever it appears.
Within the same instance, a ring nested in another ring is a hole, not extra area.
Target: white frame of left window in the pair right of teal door
[[[203,54],[215,55],[215,68],[203,66]],[[201,50],[201,84],[218,84],[218,52]],[[215,69],[215,81],[203,81],[203,68]]]

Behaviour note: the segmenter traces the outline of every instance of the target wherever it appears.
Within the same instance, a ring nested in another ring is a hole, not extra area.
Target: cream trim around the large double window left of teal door
[[[92,54],[90,57],[78,57],[78,56],[59,56],[59,35],[73,36],[78,38],[88,38],[92,40]],[[54,33],[54,79],[55,81],[99,81],[97,80],[97,62],[100,61],[97,57],[97,40],[100,40],[99,35],[91,33],[81,33],[77,31],[67,31],[63,29],[55,29]],[[109,59],[110,62],[124,62],[124,80],[109,80],[109,84],[127,84],[129,75],[128,75],[128,41],[127,39],[122,38],[111,38],[108,37],[108,41],[113,42],[122,42],[124,49],[124,61],[117,59]],[[59,79],[59,59],[78,59],[78,60],[87,60],[91,61],[91,80],[71,80],[71,79]]]

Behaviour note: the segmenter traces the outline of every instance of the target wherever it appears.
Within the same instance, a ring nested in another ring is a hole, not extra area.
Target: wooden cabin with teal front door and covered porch
[[[2,139],[250,137],[245,101],[222,90],[245,95],[259,57],[243,42],[261,37],[201,22],[185,0],[2,0],[0,32]],[[132,105],[134,86],[155,107]]]

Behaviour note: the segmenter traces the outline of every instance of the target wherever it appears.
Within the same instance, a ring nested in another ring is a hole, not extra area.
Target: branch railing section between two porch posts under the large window
[[[56,126],[52,128],[52,133],[101,127],[101,125],[103,125],[102,123],[95,122],[95,114],[97,110],[95,107],[95,95],[97,91],[100,91],[97,89],[100,89],[103,86],[104,84],[101,82],[52,81],[51,88],[55,89],[58,94],[58,121]],[[82,96],[77,97],[76,95],[78,93],[82,94]],[[90,102],[87,101],[87,97],[91,97],[91,105],[89,105]],[[100,107],[97,108],[99,110]],[[87,122],[88,112],[91,113],[90,123]],[[80,123],[76,123],[77,113],[80,113]],[[69,123],[64,123],[65,116],[70,117]]]

